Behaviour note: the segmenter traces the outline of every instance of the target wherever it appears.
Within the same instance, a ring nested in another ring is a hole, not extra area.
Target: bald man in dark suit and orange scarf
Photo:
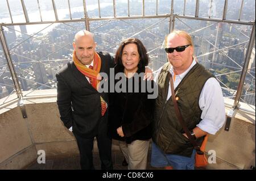
[[[107,136],[108,95],[97,91],[97,75],[109,75],[114,65],[108,53],[96,52],[93,34],[76,33],[73,61],[57,74],[57,105],[65,127],[72,128],[80,151],[81,169],[94,169],[93,140],[97,138],[101,169],[113,169],[111,146]]]

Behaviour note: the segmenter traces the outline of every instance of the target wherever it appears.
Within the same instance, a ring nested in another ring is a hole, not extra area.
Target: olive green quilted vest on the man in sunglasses
[[[164,64],[158,77],[158,98],[155,103],[154,132],[152,139],[166,154],[178,154],[191,157],[193,145],[188,138],[183,136],[183,128],[180,125],[174,111],[172,98],[167,99],[171,64]],[[201,121],[201,109],[199,98],[205,82],[214,77],[202,65],[196,64],[181,80],[175,89],[175,96],[183,120],[188,129],[193,129]],[[203,137],[197,139],[201,144]]]

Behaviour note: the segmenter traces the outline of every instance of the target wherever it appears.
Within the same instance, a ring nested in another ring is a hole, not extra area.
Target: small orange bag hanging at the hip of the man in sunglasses
[[[202,142],[202,145],[200,147],[201,152],[196,152],[196,158],[195,158],[195,166],[196,167],[205,167],[208,165],[207,157],[205,157],[204,150],[205,146],[207,144],[208,140],[208,134],[204,137],[204,140]]]

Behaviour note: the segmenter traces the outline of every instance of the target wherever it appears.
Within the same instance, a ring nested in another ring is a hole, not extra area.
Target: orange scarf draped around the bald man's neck
[[[97,84],[100,82],[97,80],[97,75],[100,73],[101,69],[101,57],[98,55],[98,53],[94,53],[93,69],[87,68],[80,62],[76,56],[75,50],[73,51],[73,61],[76,65],[76,68],[79,69],[82,74],[84,74],[86,77],[92,78],[92,86],[97,90]]]

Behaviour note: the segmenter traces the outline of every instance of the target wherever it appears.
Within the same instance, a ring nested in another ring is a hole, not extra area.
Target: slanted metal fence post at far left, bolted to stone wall
[[[14,69],[13,62],[11,61],[11,56],[10,56],[9,48],[7,47],[7,44],[6,44],[6,38],[5,38],[5,33],[3,32],[3,27],[1,26],[0,28],[1,28],[1,30],[0,30],[1,45],[3,47],[3,52],[5,53],[5,58],[6,58],[9,70],[10,70],[11,78],[13,78],[14,87],[17,92],[17,96],[19,98],[18,106],[20,107],[20,109],[22,111],[23,118],[26,118],[27,113],[26,113],[24,103],[23,103],[22,90],[20,89],[19,81],[18,81],[16,72]]]

